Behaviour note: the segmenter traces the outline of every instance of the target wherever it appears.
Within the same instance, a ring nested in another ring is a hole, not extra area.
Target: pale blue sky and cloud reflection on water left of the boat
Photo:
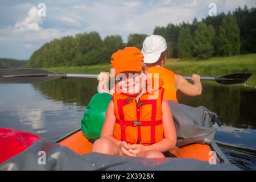
[[[0,85],[0,127],[57,139],[80,127],[84,107],[49,99],[32,85]]]

